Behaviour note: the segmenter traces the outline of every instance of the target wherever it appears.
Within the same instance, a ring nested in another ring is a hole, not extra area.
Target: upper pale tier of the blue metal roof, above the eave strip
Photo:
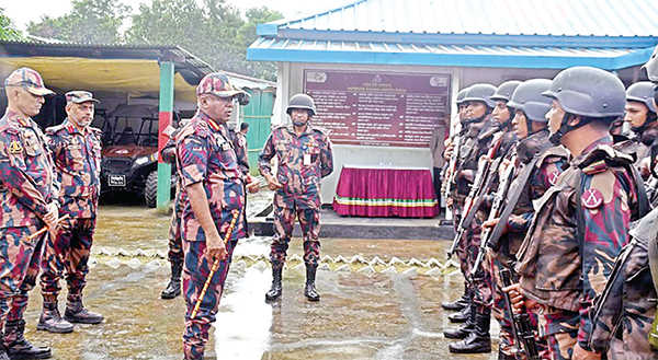
[[[359,0],[279,28],[422,34],[657,36],[655,0]]]

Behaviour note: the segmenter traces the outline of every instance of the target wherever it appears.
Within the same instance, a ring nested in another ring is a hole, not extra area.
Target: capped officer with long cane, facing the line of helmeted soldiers
[[[211,73],[196,88],[198,112],[175,137],[178,172],[186,201],[182,213],[183,294],[185,298],[185,359],[202,359],[211,323],[219,307],[219,299],[231,260],[232,251],[245,236],[245,187],[247,181],[238,166],[236,152],[223,123],[232,113],[232,102],[241,94],[224,73]],[[258,190],[258,182],[247,185]],[[225,243],[229,223],[238,218],[230,239]],[[217,274],[209,282],[195,317],[194,305],[211,267],[218,259]]]

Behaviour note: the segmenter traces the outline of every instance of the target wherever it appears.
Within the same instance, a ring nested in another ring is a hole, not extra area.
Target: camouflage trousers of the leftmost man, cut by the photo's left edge
[[[27,293],[36,284],[42,251],[48,234],[27,241],[41,227],[0,229],[0,329],[23,318]]]

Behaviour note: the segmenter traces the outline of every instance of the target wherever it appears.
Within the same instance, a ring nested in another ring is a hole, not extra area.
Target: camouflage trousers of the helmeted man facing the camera
[[[295,216],[299,220],[304,235],[304,264],[318,266],[320,258],[320,210],[319,209],[290,209],[274,208],[274,236],[270,252],[272,268],[283,267],[285,264],[288,243],[293,236]]]

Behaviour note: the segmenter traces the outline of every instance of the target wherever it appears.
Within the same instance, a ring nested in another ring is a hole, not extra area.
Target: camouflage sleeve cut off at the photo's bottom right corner
[[[658,359],[647,338],[656,315],[656,288],[649,270],[649,239],[658,209],[631,230],[592,314],[591,348],[608,359]]]

